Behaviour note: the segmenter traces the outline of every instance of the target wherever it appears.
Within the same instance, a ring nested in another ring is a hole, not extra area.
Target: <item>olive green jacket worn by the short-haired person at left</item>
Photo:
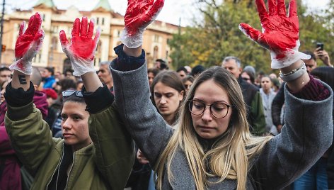
[[[134,145],[117,118],[113,106],[90,115],[93,143],[74,152],[66,189],[124,189],[134,161]],[[13,148],[35,177],[31,189],[46,189],[62,158],[64,140],[52,138],[33,103],[8,105],[5,122]]]

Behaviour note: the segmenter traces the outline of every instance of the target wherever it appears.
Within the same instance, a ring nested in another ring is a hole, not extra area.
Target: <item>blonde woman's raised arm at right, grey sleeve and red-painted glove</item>
[[[287,85],[282,133],[265,145],[251,173],[263,189],[282,189],[306,172],[332,143],[333,91],[309,77],[301,61],[310,57],[298,51],[296,1],[290,1],[288,16],[284,0],[269,0],[268,11],[263,0],[255,3],[264,32],[245,23],[239,27],[270,50],[272,68],[281,70]]]

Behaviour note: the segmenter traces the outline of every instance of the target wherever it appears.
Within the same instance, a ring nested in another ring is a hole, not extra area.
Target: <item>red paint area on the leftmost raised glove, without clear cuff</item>
[[[40,26],[42,25],[42,18],[39,13],[30,17],[27,30],[23,33],[25,23],[21,23],[20,30],[18,32],[18,39],[15,45],[15,57],[20,59],[29,50],[31,45],[41,37]]]

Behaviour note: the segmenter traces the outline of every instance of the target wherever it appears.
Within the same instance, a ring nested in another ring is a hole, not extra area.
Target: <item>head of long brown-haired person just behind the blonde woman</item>
[[[174,71],[163,71],[154,77],[151,84],[151,100],[163,119],[174,125],[178,109],[185,97],[185,86]]]

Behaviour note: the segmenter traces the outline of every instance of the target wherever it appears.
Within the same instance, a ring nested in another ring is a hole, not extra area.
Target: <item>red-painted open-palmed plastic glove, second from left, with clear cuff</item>
[[[81,76],[86,72],[96,72],[93,61],[98,39],[100,38],[100,28],[96,30],[94,39],[92,39],[93,31],[93,18],[88,26],[87,17],[83,17],[81,23],[79,18],[76,18],[74,21],[71,43],[67,40],[64,30],[61,30],[59,33],[62,50],[69,57],[69,60],[71,60],[74,76]]]

